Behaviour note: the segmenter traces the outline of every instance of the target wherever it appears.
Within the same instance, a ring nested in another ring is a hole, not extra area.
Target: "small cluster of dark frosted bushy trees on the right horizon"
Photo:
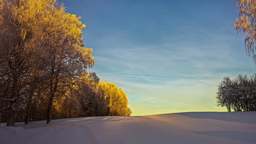
[[[217,106],[225,106],[228,111],[256,111],[256,74],[239,74],[234,80],[225,76],[219,83],[216,99]]]

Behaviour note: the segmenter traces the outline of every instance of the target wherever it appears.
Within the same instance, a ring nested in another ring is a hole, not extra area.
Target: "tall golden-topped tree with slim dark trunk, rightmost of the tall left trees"
[[[79,21],[80,17],[65,12],[65,8],[54,8],[49,26],[54,26],[46,41],[46,69],[48,74],[49,104],[47,123],[51,121],[51,112],[54,98],[66,95],[67,88],[76,85],[87,67],[94,65],[91,56],[92,49],[86,49],[83,43],[82,29],[85,25]],[[47,61],[48,60],[48,61]]]

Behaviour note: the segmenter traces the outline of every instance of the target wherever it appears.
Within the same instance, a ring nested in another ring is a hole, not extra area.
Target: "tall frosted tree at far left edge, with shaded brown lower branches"
[[[42,62],[43,49],[37,32],[44,19],[36,13],[38,11],[31,11],[35,9],[36,1],[33,8],[31,3],[0,1],[0,80],[2,84],[8,83],[0,89],[0,101],[5,101],[8,107],[7,125],[13,125],[16,109],[33,91],[31,74]]]

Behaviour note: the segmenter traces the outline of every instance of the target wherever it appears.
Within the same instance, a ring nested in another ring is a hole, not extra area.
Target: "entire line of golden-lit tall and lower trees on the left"
[[[88,73],[81,17],[57,0],[0,0],[0,120],[130,116],[117,85]]]

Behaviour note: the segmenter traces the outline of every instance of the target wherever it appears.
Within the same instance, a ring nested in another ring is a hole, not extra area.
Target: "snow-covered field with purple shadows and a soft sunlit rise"
[[[0,143],[256,143],[256,112],[57,119],[0,127]]]

